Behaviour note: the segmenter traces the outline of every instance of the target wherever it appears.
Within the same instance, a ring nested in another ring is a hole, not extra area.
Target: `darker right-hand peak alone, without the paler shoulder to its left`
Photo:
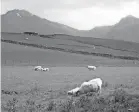
[[[139,18],[127,16],[104,36],[109,39],[139,42]]]

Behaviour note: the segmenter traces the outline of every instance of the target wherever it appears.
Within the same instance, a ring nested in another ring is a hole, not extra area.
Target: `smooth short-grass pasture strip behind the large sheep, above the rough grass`
[[[111,85],[125,84],[139,87],[138,67],[98,67],[89,71],[86,67],[50,67],[49,72],[34,71],[31,66],[2,67],[2,89],[20,91],[38,84],[42,88],[59,90],[80,85],[86,80],[102,78]]]

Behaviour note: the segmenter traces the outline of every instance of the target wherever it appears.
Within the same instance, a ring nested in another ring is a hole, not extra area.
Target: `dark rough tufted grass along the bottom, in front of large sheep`
[[[108,83],[104,84],[104,87],[107,86]],[[43,98],[51,96],[53,93],[48,95],[45,92],[41,93],[42,91],[37,86],[28,92],[30,94],[26,94],[28,97],[24,97],[24,101],[20,100],[23,98],[23,94],[19,97],[15,97],[14,94],[11,96],[13,98],[6,103],[2,101],[2,110],[8,112],[139,112],[139,95],[129,94],[121,87],[114,88],[114,91],[107,95],[102,93],[101,96],[81,95],[60,99],[60,95],[63,94],[58,92],[58,98],[53,96],[53,98],[46,98],[46,100]],[[44,97],[42,98],[40,95]]]

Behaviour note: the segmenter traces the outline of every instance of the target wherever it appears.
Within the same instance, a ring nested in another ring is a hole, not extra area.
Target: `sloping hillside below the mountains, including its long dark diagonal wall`
[[[139,44],[111,39],[81,38],[62,34],[39,37],[18,33],[2,33],[2,42],[82,55],[139,60]]]

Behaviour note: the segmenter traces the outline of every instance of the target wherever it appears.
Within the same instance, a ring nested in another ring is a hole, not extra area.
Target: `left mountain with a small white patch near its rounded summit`
[[[40,18],[26,10],[11,10],[1,16],[1,31],[21,33],[25,31],[41,34],[64,33],[74,35],[77,30],[63,24]]]

